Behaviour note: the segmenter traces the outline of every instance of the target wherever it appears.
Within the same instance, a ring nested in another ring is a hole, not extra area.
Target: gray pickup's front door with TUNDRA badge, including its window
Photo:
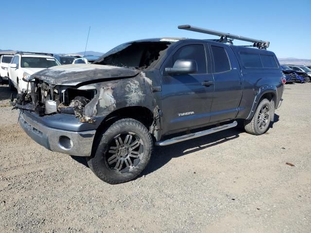
[[[208,56],[206,55],[208,54]],[[197,73],[170,75],[166,67],[173,67],[178,59],[197,63]],[[182,43],[175,48],[160,69],[162,82],[162,135],[185,131],[209,122],[212,103],[213,76],[208,73],[210,56],[204,43]]]

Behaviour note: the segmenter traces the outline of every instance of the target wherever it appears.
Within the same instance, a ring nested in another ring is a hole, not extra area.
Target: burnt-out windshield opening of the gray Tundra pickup
[[[117,46],[93,64],[146,69],[153,67],[171,42],[133,42]]]

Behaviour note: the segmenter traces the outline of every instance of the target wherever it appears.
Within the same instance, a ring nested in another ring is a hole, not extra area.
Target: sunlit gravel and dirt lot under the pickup
[[[268,133],[155,148],[119,185],[33,142],[9,96],[0,85],[0,232],[311,232],[311,83],[286,85]]]

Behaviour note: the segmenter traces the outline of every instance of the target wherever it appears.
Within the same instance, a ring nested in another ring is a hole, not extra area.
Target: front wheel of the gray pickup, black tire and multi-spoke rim
[[[137,178],[153,151],[151,134],[132,118],[113,123],[94,145],[98,146],[91,157],[86,157],[87,164],[98,178],[110,184]]]

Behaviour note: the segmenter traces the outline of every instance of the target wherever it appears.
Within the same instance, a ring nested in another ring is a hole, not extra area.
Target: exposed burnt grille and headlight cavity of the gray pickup
[[[86,113],[85,108],[97,94],[97,89],[79,90],[72,86],[52,85],[39,79],[28,81],[31,92],[17,94],[16,100],[11,96],[14,109],[35,112],[38,116],[56,113],[72,114],[80,122],[93,123],[96,109]]]

